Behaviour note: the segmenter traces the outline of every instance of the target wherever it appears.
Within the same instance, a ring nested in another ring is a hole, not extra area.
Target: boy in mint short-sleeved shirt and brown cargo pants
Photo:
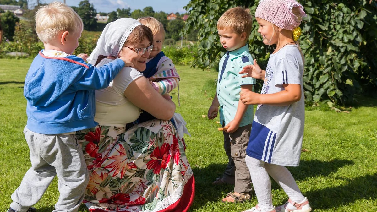
[[[234,184],[233,192],[222,200],[242,202],[250,199],[252,183],[245,163],[246,148],[253,121],[253,106],[239,100],[240,92],[253,90],[254,78],[242,78],[238,72],[253,61],[247,40],[251,32],[252,17],[249,9],[228,9],[218,20],[220,43],[227,53],[219,62],[216,94],[208,109],[208,118],[217,117],[220,107],[220,122],[225,127],[224,149],[228,164],[222,177],[213,184]]]

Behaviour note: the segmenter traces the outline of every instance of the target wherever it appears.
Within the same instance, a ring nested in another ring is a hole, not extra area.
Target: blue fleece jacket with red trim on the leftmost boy
[[[96,68],[75,55],[55,58],[39,52],[25,78],[26,127],[61,134],[96,126],[94,90],[109,86],[123,66],[116,59]]]

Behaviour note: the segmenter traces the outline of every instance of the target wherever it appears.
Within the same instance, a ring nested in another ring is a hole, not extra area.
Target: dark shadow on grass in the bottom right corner
[[[304,195],[308,197],[310,205],[314,209],[337,208],[362,199],[375,200],[377,198],[377,174],[350,179],[346,185],[309,191]]]

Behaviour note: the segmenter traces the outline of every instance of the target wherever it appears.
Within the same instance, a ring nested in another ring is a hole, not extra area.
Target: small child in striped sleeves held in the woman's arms
[[[180,80],[179,74],[175,69],[175,65],[169,57],[166,57],[161,51],[165,40],[165,29],[161,22],[153,17],[142,17],[138,21],[149,27],[153,33],[153,49],[147,59],[146,69],[143,71],[144,77],[147,77],[151,82],[153,88],[161,95],[169,95],[169,93],[178,87]],[[178,93],[179,103],[179,93]],[[155,117],[144,111],[140,114],[138,123],[152,120]]]

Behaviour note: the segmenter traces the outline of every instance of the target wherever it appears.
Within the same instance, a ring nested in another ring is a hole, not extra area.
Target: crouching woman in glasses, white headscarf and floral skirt
[[[77,132],[89,170],[85,190],[90,211],[186,211],[194,178],[185,143],[169,121],[175,104],[143,77],[153,46],[152,31],[132,18],[109,23],[88,62],[101,66],[128,57],[106,89],[95,92],[96,128]],[[126,129],[141,111],[157,119]]]

